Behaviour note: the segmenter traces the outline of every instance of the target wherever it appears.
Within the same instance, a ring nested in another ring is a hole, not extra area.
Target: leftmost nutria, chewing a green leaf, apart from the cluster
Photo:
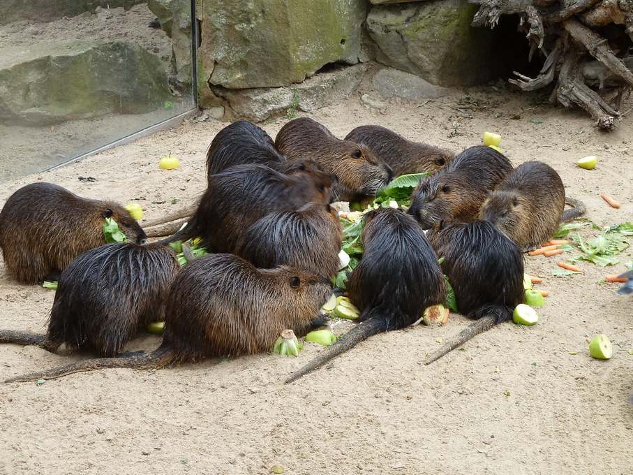
[[[117,203],[81,198],[57,184],[27,184],[0,212],[0,247],[8,272],[24,284],[56,279],[75,257],[105,244],[106,218],[114,219],[130,242],[145,242],[142,228]]]

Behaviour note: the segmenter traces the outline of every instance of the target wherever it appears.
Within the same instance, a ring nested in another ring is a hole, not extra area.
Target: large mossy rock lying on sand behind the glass
[[[0,121],[45,125],[170,105],[160,59],[134,43],[65,40],[0,50]]]

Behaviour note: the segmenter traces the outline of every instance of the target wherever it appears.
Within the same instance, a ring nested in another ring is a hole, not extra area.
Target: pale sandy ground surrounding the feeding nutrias
[[[370,92],[371,91],[364,91]],[[313,115],[342,138],[361,124],[461,151],[502,134],[514,165],[530,159],[560,173],[588,208],[579,233],[633,221],[633,122],[604,133],[581,110],[537,105],[536,95],[499,87],[452,90],[422,103],[387,101],[380,112],[359,94]],[[633,106],[627,99],[623,110]],[[512,117],[520,118],[512,119]],[[261,124],[271,135],[288,119]],[[538,123],[537,123],[538,122]],[[142,205],[141,224],[191,205],[204,189],[209,142],[225,122],[186,122],[78,163],[0,184],[0,203],[42,180],[81,196]],[[169,152],[181,166],[161,170]],[[594,170],[576,161],[595,154]],[[79,176],[96,182],[80,182]],[[600,193],[622,204],[607,205]],[[577,247],[568,257],[579,256]],[[552,277],[558,257],[526,257],[549,291],[532,327],[503,323],[429,366],[422,361],[468,325],[375,336],[330,367],[283,380],[322,347],[298,357],[274,353],[211,358],[158,371],[101,370],[36,383],[0,384],[3,474],[630,474],[633,467],[633,315],[619,284],[624,272],[580,261],[582,275]],[[15,284],[0,270],[4,328],[45,331],[54,291]],[[334,322],[340,333],[348,323]],[[606,333],[613,358],[596,360],[588,339]],[[160,343],[140,335],[129,349]],[[577,354],[572,354],[576,352]],[[0,380],[87,358],[0,345]]]

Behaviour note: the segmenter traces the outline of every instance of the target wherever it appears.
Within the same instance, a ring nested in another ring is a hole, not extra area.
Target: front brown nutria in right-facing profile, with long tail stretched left
[[[211,356],[269,351],[287,328],[297,336],[322,324],[329,280],[288,267],[257,269],[232,254],[208,254],[172,282],[161,346],[144,355],[96,358],[6,379],[31,381],[106,367],[157,369]]]

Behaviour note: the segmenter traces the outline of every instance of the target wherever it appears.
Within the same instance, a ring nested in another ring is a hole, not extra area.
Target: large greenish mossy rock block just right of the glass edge
[[[367,8],[365,0],[203,2],[201,79],[228,89],[281,87],[325,64],[355,64]]]

